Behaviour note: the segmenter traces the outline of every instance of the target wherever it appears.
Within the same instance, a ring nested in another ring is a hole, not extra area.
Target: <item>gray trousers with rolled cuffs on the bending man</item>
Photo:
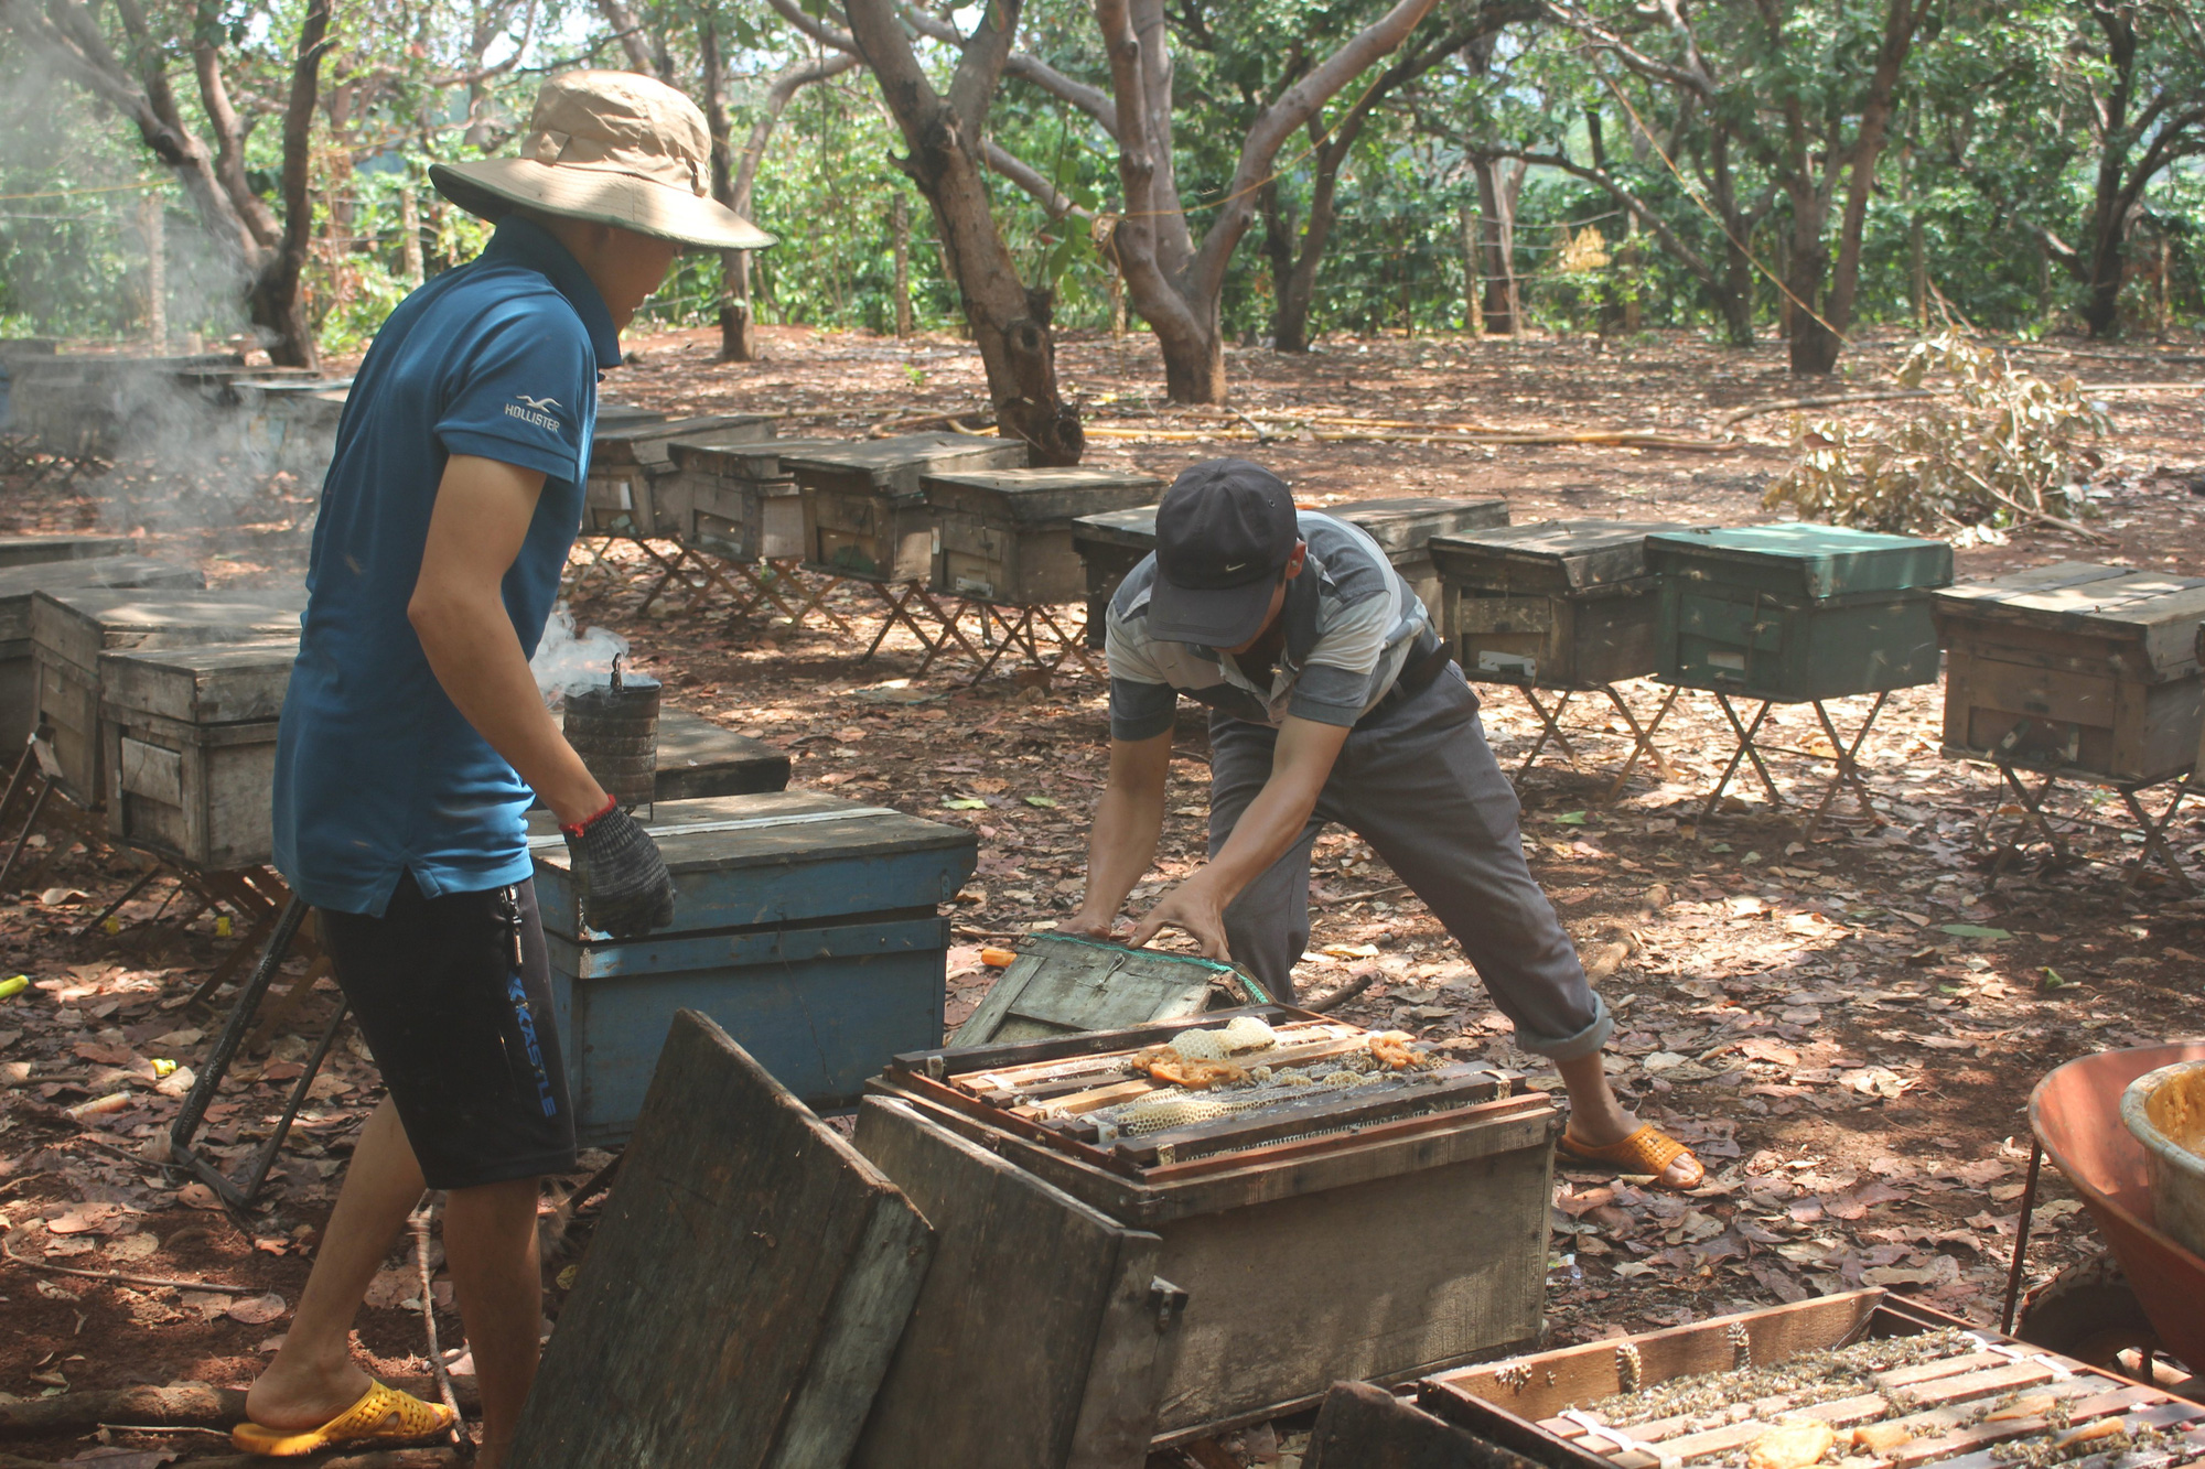
[[[1279,732],[1211,719],[1211,856],[1270,781]],[[1226,907],[1233,957],[1292,1004],[1310,944],[1310,847],[1327,823],[1360,836],[1462,944],[1515,1043],[1590,1057],[1614,1019],[1524,862],[1517,798],[1486,748],[1477,695],[1449,664],[1424,690],[1365,717],[1292,847]]]

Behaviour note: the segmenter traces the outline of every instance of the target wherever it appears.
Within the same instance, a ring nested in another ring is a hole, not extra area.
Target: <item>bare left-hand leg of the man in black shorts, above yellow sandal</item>
[[[291,1330],[276,1361],[245,1394],[254,1423],[300,1434],[318,1429],[368,1390],[368,1374],[353,1363],[353,1317],[406,1229],[406,1215],[421,1202],[421,1165],[406,1127],[384,1098],[359,1132]]]

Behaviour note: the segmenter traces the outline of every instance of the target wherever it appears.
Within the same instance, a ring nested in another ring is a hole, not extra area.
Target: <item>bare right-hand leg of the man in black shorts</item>
[[[536,1262],[536,1180],[452,1189],[443,1202],[443,1257],[467,1323],[483,1394],[476,1469],[498,1469],[536,1381],[542,1277]]]

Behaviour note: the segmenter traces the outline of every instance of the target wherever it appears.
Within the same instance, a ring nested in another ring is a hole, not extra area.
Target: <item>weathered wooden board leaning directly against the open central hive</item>
[[[869,1096],[858,1151],[919,1207],[935,1266],[858,1438],[858,1469],[1140,1469],[1147,1436],[1122,1443],[1122,1401],[1089,1409],[1091,1368],[1114,1392],[1140,1379],[1169,1326],[1114,1310],[1127,1282],[1153,1279],[1162,1240],[1125,1229],[1069,1193],[966,1143],[902,1101]],[[1147,1352],[1147,1357],[1144,1357]],[[1100,1434],[1116,1425],[1122,1451]]]

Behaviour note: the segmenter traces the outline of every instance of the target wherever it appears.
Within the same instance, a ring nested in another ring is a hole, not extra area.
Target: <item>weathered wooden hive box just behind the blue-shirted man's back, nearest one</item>
[[[209,871],[271,860],[276,719],[298,640],[99,655],[108,832]]]

